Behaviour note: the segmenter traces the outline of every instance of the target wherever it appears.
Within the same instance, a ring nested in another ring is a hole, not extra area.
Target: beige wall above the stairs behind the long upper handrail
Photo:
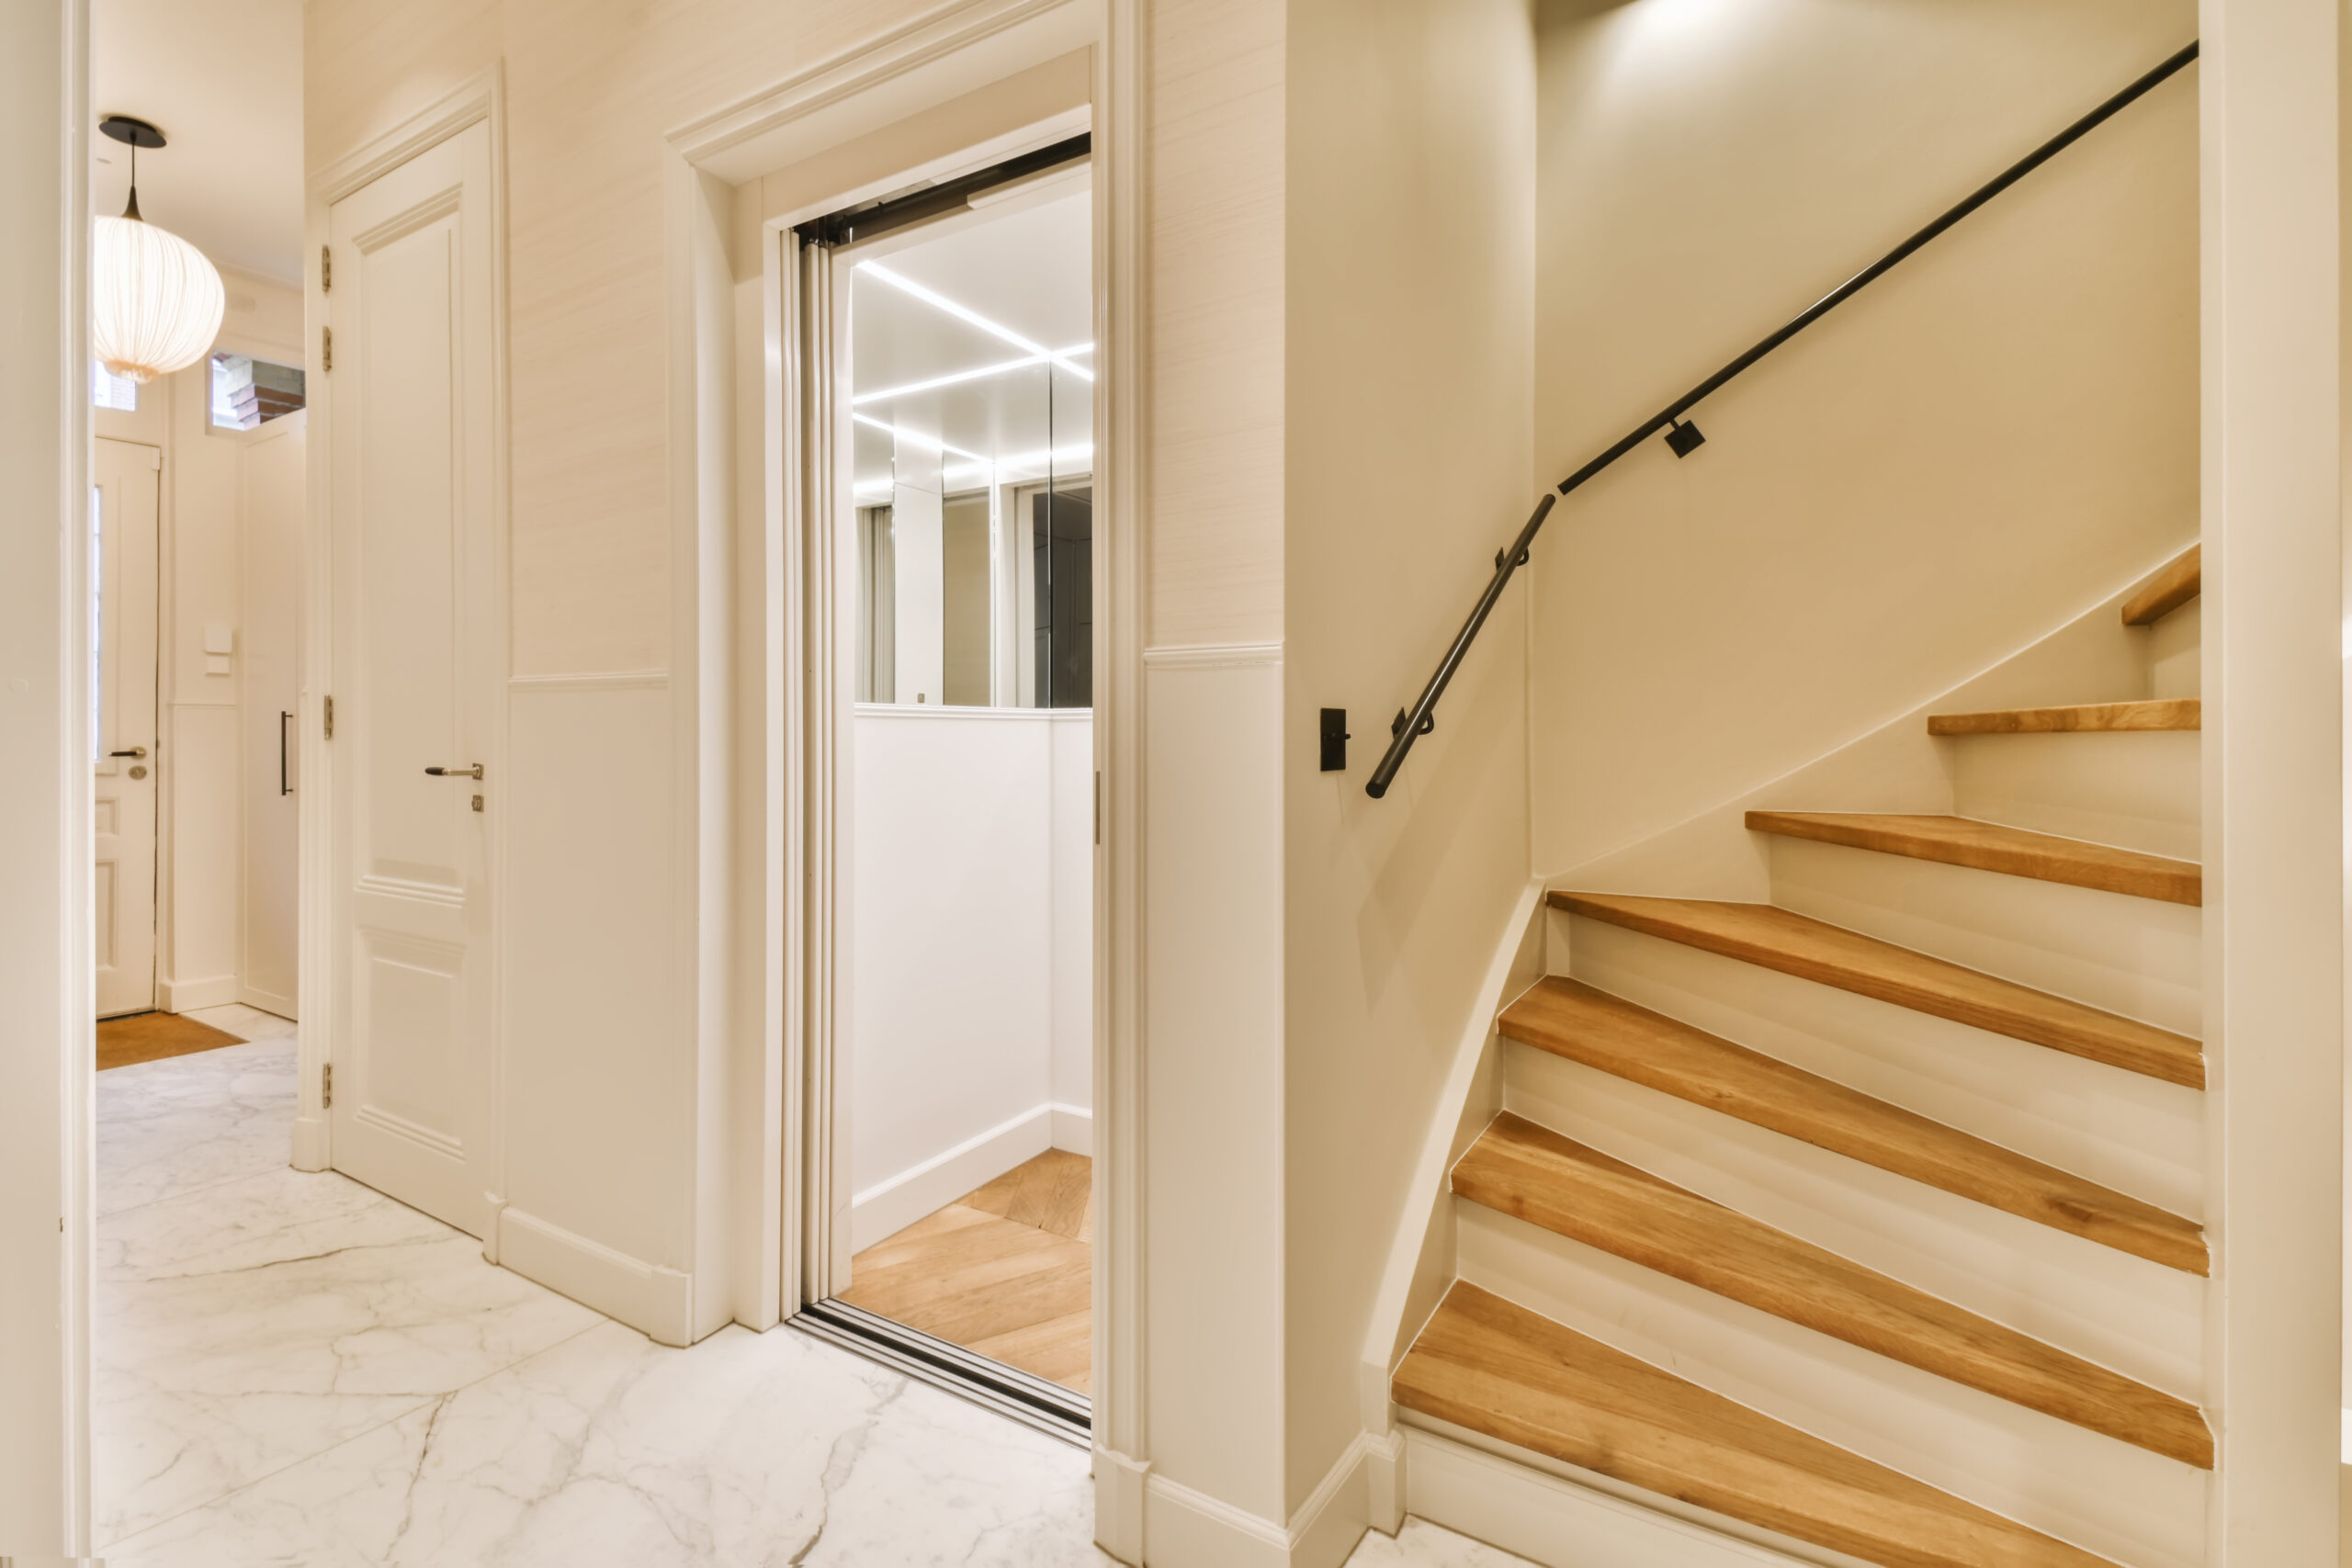
[[[2197,31],[2187,0],[1543,9],[1536,482]],[[2197,536],[2197,68],[1555,512],[1536,867],[1646,839]]]

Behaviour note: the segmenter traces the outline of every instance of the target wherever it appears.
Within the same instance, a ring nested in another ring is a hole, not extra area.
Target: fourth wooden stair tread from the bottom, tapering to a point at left
[[[1962,969],[1766,903],[1571,891],[1555,891],[1548,900],[1569,914],[1602,919],[1743,964],[1778,969],[1799,980],[1835,985],[1858,997],[1933,1013],[2166,1084],[2204,1088],[2204,1051],[2185,1034],[2159,1030],[2138,1018],[2103,1013],[2082,1001],[2051,997],[2016,980]]]

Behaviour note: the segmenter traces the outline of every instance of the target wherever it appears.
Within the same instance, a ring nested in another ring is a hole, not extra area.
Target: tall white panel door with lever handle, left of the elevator
[[[480,1237],[506,679],[489,127],[336,202],[329,240],[334,1166]]]

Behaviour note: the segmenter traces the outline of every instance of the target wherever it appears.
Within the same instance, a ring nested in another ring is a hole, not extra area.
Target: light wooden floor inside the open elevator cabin
[[[849,1260],[851,1307],[1087,1392],[1094,1161],[1047,1150]]]

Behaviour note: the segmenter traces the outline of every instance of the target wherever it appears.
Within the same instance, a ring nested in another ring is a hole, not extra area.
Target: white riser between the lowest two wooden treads
[[[2145,1568],[2194,1568],[2204,1472],[1458,1201],[1461,1274],[1865,1460]]]

